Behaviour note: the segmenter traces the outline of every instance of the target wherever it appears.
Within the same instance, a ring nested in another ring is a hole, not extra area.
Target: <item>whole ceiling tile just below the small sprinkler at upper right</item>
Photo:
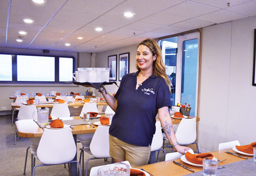
[[[212,23],[220,24],[223,22],[232,21],[232,20],[236,20],[236,19],[242,19],[245,17],[247,17],[247,16],[239,15],[237,13],[233,13],[233,12],[229,12],[229,11],[225,11],[225,10],[220,10],[220,11],[208,13],[206,15],[195,17],[195,19],[210,21]]]

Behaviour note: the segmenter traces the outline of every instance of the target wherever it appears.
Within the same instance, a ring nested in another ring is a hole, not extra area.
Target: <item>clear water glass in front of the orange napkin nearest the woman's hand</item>
[[[203,158],[204,176],[216,176],[218,160],[215,157]]]

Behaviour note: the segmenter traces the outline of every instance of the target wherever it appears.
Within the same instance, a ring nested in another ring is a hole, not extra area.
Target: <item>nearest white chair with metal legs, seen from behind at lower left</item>
[[[31,163],[33,163],[31,166],[31,175],[35,175],[35,169],[39,166],[77,163],[81,176],[80,164],[76,160],[73,160],[76,153],[77,147],[71,128],[58,130],[45,129],[39,142],[37,154],[31,154]],[[36,159],[42,164],[35,165]]]

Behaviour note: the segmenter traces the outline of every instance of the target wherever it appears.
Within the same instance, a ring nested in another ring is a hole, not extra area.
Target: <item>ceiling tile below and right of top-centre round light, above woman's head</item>
[[[160,24],[152,24],[152,23],[145,23],[142,21],[136,21],[132,24],[129,24],[127,26],[125,26],[124,28],[126,29],[139,29],[142,31],[152,31],[161,27],[165,27],[164,25],[160,25]]]

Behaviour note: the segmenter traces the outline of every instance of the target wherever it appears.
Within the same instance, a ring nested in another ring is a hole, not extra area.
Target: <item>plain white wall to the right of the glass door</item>
[[[256,87],[252,86],[255,28],[256,16],[203,29],[200,152],[215,151],[225,141],[239,140],[241,145],[256,141]]]

